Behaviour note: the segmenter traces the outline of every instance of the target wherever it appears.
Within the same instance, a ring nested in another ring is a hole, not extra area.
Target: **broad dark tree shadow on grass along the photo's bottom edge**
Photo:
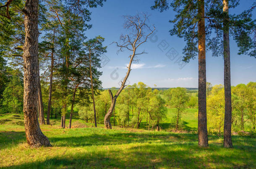
[[[8,168],[254,168],[253,153],[248,154],[241,161],[241,151],[221,154],[226,149],[210,147],[200,149],[197,144],[135,144],[123,149],[121,146],[113,148],[84,151],[67,151],[66,154],[48,156],[42,161],[28,162],[21,165],[3,167]],[[250,160],[251,159],[251,160]]]

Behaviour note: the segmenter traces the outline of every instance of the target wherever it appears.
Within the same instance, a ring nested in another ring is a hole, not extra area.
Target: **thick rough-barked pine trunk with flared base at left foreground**
[[[38,0],[26,0],[24,9],[24,124],[26,141],[31,147],[51,146],[37,119],[39,83],[38,65]]]

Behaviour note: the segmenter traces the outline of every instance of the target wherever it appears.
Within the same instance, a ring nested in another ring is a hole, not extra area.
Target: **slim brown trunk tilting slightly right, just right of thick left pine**
[[[48,98],[48,109],[47,109],[47,119],[46,119],[46,124],[50,124],[50,108],[52,106],[52,75],[53,75],[53,64],[54,64],[54,59],[53,59],[53,49],[51,53],[51,73],[50,73],[50,86],[49,86],[49,98]]]

